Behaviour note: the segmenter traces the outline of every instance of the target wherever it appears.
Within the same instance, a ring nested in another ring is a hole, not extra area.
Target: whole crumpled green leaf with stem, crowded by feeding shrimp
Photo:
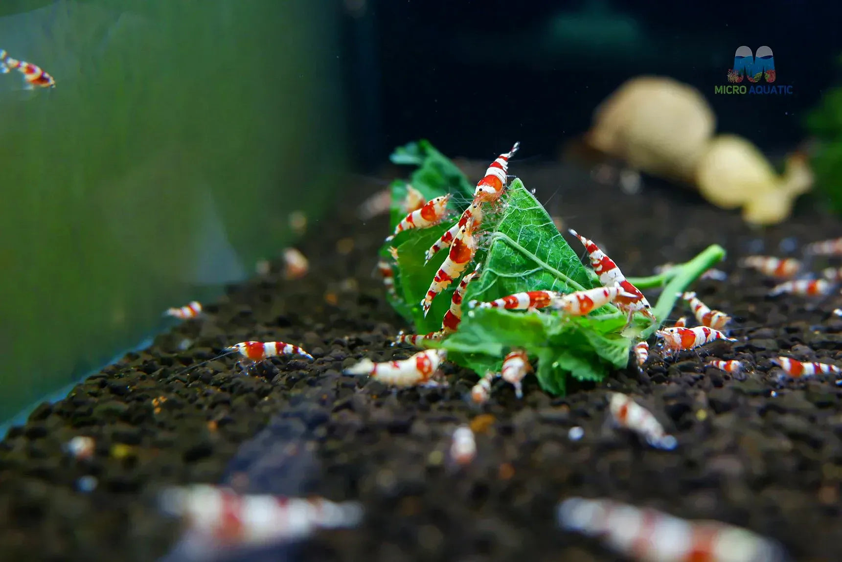
[[[392,161],[419,166],[410,181],[428,199],[445,193],[455,194],[456,201],[460,197],[462,202],[470,199],[472,186],[458,168],[424,140],[398,149]],[[392,194],[392,204],[399,204],[406,194],[406,183],[393,183]],[[568,246],[546,210],[520,179],[515,179],[504,195],[502,209],[486,209],[485,212],[482,246],[488,250],[477,252],[476,261],[483,264],[482,273],[468,286],[465,303],[495,300],[522,291],[570,293],[600,286],[594,272],[586,268],[578,253]],[[420,302],[447,252],[439,252],[426,265],[424,253],[456,217],[452,219],[433,228],[402,232],[393,241],[398,252],[395,279],[398,299],[392,304],[405,318],[413,321],[415,333],[440,329],[458,284],[450,284],[436,297],[425,318]],[[658,319],[669,315],[676,300],[675,293],[698,278],[723,254],[722,248],[711,247],[668,273],[642,279],[648,286],[667,284],[656,305]],[[388,255],[387,246],[381,248],[381,255]],[[465,273],[471,270],[468,268]],[[586,316],[562,315],[556,310],[465,309],[459,330],[440,342],[431,343],[430,347],[445,348],[450,361],[472,368],[480,375],[488,370],[499,372],[505,354],[515,347],[523,348],[530,358],[538,359],[536,375],[541,387],[562,394],[568,376],[599,381],[611,370],[625,367],[629,361],[632,339],[621,334],[626,317],[612,305]],[[638,315],[634,326],[638,333],[644,331],[642,326],[649,326],[649,323]],[[650,336],[657,327],[648,327],[644,336]]]

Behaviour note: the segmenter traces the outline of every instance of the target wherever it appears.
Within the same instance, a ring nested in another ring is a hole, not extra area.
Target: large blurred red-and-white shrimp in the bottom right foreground
[[[718,521],[688,521],[607,499],[571,497],[557,510],[566,531],[601,538],[641,562],[785,562],[779,543]]]

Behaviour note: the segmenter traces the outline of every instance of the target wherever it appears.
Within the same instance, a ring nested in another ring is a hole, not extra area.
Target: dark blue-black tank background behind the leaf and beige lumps
[[[365,171],[418,138],[481,159],[520,140],[521,156],[556,159],[600,101],[641,74],[697,87],[717,132],[782,153],[805,138],[803,116],[839,83],[842,8],[829,2],[345,0],[343,8],[349,125]],[[585,22],[568,27],[577,36],[554,42],[554,18],[571,17]],[[632,40],[612,33],[617,19],[637,22]],[[740,45],[770,46],[775,84],[793,94],[714,94]]]

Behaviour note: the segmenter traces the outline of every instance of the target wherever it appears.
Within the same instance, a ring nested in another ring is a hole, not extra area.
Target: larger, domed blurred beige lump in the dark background
[[[694,87],[672,78],[637,77],[596,109],[585,142],[641,172],[692,183],[716,125]]]

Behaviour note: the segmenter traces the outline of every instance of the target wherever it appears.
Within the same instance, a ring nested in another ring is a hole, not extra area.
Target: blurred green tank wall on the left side
[[[344,167],[338,14],[307,0],[5,0],[0,421],[212,299]]]

